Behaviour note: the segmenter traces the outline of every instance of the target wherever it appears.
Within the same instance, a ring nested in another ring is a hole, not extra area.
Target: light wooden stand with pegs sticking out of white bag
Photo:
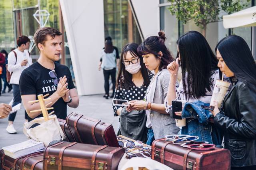
[[[42,112],[43,116],[44,116],[44,121],[48,121],[50,120],[51,118],[49,118],[49,116],[51,114],[54,113],[54,111],[50,112],[50,114],[48,114],[48,110],[51,110],[53,109],[53,107],[51,108],[47,108],[47,106],[49,106],[50,104],[52,104],[52,102],[48,103],[48,104],[45,104],[45,101],[47,100],[51,100],[51,98],[46,98],[46,96],[49,96],[49,94],[46,94],[46,95],[42,95],[42,94],[39,94],[37,97],[38,97],[38,100],[33,100],[33,101],[29,101],[28,103],[36,103],[36,102],[39,102],[40,104],[40,108],[41,109],[38,109],[38,110],[31,110],[30,113],[34,113],[34,112]]]

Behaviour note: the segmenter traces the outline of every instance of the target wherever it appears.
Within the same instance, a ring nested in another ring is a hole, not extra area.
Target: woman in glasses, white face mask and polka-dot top
[[[120,62],[113,99],[131,101],[141,100],[145,96],[146,88],[150,83],[150,75],[137,48],[138,44],[131,43],[126,44],[122,49],[120,59],[122,62]],[[145,141],[147,139],[146,116],[143,112],[134,112],[126,107],[114,105],[113,110],[114,116],[120,116],[122,135],[134,140]]]

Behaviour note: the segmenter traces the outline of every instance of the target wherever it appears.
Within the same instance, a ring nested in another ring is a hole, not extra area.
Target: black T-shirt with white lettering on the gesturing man
[[[57,74],[57,77],[63,77],[66,76],[67,82],[68,82],[68,88],[72,89],[75,88],[74,83],[72,81],[71,73],[67,66],[64,66],[62,64],[54,63],[55,64],[55,72]],[[20,95],[28,95],[28,94],[35,94],[36,100],[38,100],[37,96],[39,94],[50,94],[52,95],[56,89],[57,86],[54,86],[53,80],[54,78],[51,78],[49,76],[49,70],[48,68],[43,67],[38,62],[35,62],[28,68],[26,68],[21,76],[20,76]],[[66,119],[67,116],[67,104],[64,102],[62,98],[57,100],[56,103],[52,105],[54,107],[54,114],[57,115],[58,118]],[[49,110],[51,112],[52,110]],[[43,117],[42,114],[40,114],[37,117]],[[28,121],[33,120],[28,116]]]

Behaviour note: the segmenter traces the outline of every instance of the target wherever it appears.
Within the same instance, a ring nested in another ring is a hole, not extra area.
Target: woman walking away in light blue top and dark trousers
[[[119,62],[119,58],[117,58],[117,52],[113,47],[111,40],[105,41],[105,48],[101,52],[101,61],[99,64],[99,70],[103,69],[104,74],[104,89],[105,95],[104,97],[108,99],[109,97],[109,77],[111,76],[111,81],[113,84],[113,94],[110,96],[114,97],[115,84],[116,84],[116,67]]]

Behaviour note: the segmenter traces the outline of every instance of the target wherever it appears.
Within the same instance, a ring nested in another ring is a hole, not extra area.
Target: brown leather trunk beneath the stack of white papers
[[[44,152],[35,152],[20,158],[11,158],[4,154],[4,150],[0,150],[0,169],[1,170],[43,170]],[[39,161],[40,160],[40,161]]]

